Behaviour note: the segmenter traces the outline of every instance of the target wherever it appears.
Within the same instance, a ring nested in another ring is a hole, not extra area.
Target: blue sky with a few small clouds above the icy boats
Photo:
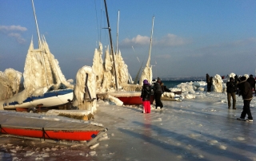
[[[254,0],[108,0],[106,4],[114,50],[118,44],[132,77],[149,56],[153,17],[153,77],[256,72]],[[34,7],[39,33],[46,37],[66,79],[92,65],[99,41],[104,48],[110,45],[102,0],[34,0]],[[11,68],[23,73],[32,39],[38,48],[32,2],[0,0],[0,71]]]

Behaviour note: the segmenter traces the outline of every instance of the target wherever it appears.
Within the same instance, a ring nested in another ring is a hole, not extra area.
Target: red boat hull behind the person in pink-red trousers
[[[111,96],[117,97],[125,105],[142,104],[141,92],[111,92]],[[154,95],[150,96],[150,104],[154,102]]]

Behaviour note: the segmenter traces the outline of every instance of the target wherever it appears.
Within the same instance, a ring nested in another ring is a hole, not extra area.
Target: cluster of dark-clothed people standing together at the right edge
[[[238,120],[248,120],[250,122],[253,121],[253,116],[250,112],[250,101],[253,99],[253,89],[255,90],[255,79],[253,75],[250,75],[248,79],[246,77],[238,76],[230,77],[230,81],[226,82],[226,93],[227,93],[227,101],[228,108],[231,107],[231,97],[233,100],[232,107],[236,109],[236,93],[238,96],[242,95],[243,100],[243,108],[241,116],[238,117]],[[246,119],[246,115],[248,116]]]

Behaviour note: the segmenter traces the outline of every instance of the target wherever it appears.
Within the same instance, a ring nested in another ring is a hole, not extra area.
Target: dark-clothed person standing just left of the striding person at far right
[[[235,108],[235,103],[236,103],[235,93],[236,92],[237,92],[237,84],[235,84],[234,78],[230,77],[230,81],[226,82],[226,93],[227,93],[228,108],[231,107],[231,97],[232,97],[233,109],[236,109]]]

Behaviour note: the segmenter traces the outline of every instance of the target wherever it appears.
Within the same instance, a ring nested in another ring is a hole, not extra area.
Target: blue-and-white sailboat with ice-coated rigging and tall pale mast
[[[34,2],[32,1],[33,9]],[[66,81],[58,60],[50,53],[45,37],[40,37],[38,23],[38,49],[30,43],[24,67],[24,90],[15,96],[2,100],[0,108],[31,108],[42,104],[42,107],[54,107],[73,100],[74,86]]]

